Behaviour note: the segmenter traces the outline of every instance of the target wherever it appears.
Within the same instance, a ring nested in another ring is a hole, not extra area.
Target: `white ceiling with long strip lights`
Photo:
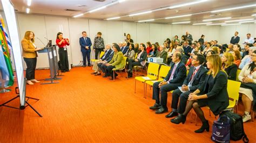
[[[38,13],[44,15],[58,15],[58,16],[68,16],[73,17],[80,13],[85,13],[90,10],[99,8],[106,4],[110,4],[117,0],[103,0],[104,2],[96,2],[93,0],[32,0],[31,6],[27,5],[27,0],[11,0],[14,3],[15,9],[18,12],[25,12],[26,8],[30,8],[30,13]],[[198,1],[198,0],[197,0]],[[192,23],[201,23],[203,19],[209,18],[220,18],[220,17],[232,17],[232,19],[245,19],[254,18],[252,14],[256,13],[256,6],[251,8],[244,8],[231,11],[223,11],[217,13],[211,13],[212,10],[219,10],[225,8],[234,8],[237,6],[256,4],[255,0],[208,0],[203,3],[183,6],[176,9],[166,9],[160,10],[152,13],[147,13],[145,15],[132,16],[129,14],[138,13],[143,11],[149,11],[159,8],[165,8],[167,6],[184,4],[195,2],[195,0],[126,0],[122,3],[117,3],[107,8],[86,13],[82,18],[93,18],[93,19],[107,19],[112,17],[121,17],[116,20],[137,22],[138,20],[156,19],[149,23],[172,23],[172,22],[184,22],[191,21]],[[85,5],[84,7],[79,7],[78,5]],[[65,9],[78,10],[78,12],[65,11]],[[192,15],[189,17],[180,17],[174,19],[164,19],[165,17],[180,16],[199,13],[197,15]],[[211,15],[216,14],[216,16],[211,17]],[[218,20],[213,23],[221,23],[225,20]]]

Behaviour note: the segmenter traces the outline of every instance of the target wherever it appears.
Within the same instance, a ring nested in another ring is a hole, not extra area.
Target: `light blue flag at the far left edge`
[[[4,58],[4,53],[1,47],[0,48],[0,88],[8,87],[9,81],[10,81],[9,71],[8,71],[5,58]]]

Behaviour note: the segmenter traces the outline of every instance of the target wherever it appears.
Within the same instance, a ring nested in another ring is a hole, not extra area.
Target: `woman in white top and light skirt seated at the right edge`
[[[242,94],[242,104],[245,107],[245,113],[242,121],[246,122],[251,119],[250,111],[253,101],[253,110],[256,110],[256,51],[251,55],[252,62],[247,63],[242,68],[238,78],[241,81],[239,93]],[[254,118],[254,117],[253,117]]]

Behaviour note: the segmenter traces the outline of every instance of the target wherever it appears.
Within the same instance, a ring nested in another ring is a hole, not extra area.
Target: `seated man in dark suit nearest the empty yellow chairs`
[[[153,84],[153,99],[156,103],[150,107],[151,110],[156,110],[156,113],[168,112],[167,104],[167,92],[177,89],[182,85],[186,78],[186,67],[184,63],[180,62],[181,54],[176,52],[172,55],[173,64],[169,70],[164,81],[155,82]],[[159,98],[159,92],[161,93],[161,99]]]

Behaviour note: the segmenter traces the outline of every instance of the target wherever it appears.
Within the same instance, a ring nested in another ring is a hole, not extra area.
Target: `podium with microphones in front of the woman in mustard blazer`
[[[49,66],[50,66],[50,78],[45,78],[45,81],[50,81],[50,82],[41,83],[41,84],[59,83],[59,82],[55,82],[55,80],[62,79],[60,77],[57,77],[59,67],[58,67],[56,45],[51,45],[51,44],[48,44],[48,45],[44,49],[37,51],[38,53],[48,53],[48,60],[49,60]]]

